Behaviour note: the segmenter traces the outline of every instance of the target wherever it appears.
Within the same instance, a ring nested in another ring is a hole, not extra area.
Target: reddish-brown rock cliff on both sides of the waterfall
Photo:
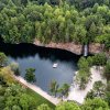
[[[73,43],[53,43],[53,42],[51,42],[48,44],[42,44],[40,41],[35,40],[34,44],[38,45],[38,46],[66,50],[72,53],[75,53],[77,55],[82,54],[82,45],[75,44],[74,42]],[[89,53],[90,54],[97,54],[97,53],[101,53],[101,52],[103,52],[101,44],[99,44],[99,43],[89,44]],[[110,55],[110,52],[107,52],[107,54]]]

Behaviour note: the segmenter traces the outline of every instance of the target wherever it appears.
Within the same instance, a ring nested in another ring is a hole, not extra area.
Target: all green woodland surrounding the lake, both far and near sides
[[[110,0],[0,0],[0,37],[11,44],[33,43],[35,40],[43,44],[99,43],[109,52]],[[109,57],[105,53],[80,57],[76,76],[79,88],[86,88],[92,66],[103,67],[107,85],[97,81],[82,105],[67,101],[55,107],[18,82],[12,76],[18,76],[19,70],[8,65],[7,56],[0,53],[0,110],[110,110]],[[31,72],[35,69],[26,69],[26,80],[32,80],[30,75],[34,77]],[[57,82],[53,84],[52,91],[57,94]]]

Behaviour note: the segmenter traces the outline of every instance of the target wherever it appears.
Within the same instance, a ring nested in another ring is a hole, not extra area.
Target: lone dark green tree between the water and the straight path
[[[36,79],[35,79],[35,69],[34,68],[28,68],[26,69],[26,74],[25,74],[25,79],[29,81],[29,82],[34,82]]]

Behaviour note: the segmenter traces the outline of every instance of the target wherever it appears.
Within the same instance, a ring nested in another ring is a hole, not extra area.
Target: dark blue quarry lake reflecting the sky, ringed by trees
[[[46,48],[33,44],[4,44],[0,43],[0,52],[3,52],[9,63],[19,63],[21,76],[24,77],[26,68],[35,68],[35,85],[50,91],[51,80],[56,80],[59,86],[72,84],[77,62],[80,56],[67,51]],[[53,65],[57,63],[57,67]]]

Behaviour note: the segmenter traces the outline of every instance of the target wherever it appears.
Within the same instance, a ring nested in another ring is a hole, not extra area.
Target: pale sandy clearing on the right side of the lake
[[[92,78],[91,81],[88,82],[85,90],[79,90],[76,85],[74,87],[72,86],[67,99],[82,103],[87,92],[90,91],[90,89],[92,89],[95,81],[101,80],[105,84],[107,82],[107,80],[103,79],[102,76],[100,75],[100,70],[97,70],[95,67],[91,68],[91,78]]]

